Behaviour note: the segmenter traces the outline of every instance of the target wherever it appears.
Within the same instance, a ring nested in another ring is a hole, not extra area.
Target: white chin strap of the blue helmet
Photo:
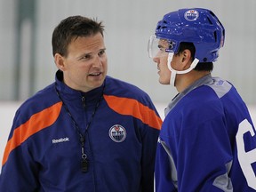
[[[171,70],[170,84],[172,84],[174,86],[176,75],[177,74],[186,74],[189,71],[191,71],[193,68],[196,68],[196,65],[199,62],[199,60],[195,58],[195,60],[193,60],[193,62],[191,63],[189,68],[187,68],[186,70],[177,71],[177,70],[173,69],[171,66],[173,54],[174,54],[173,52],[168,53],[167,66]]]

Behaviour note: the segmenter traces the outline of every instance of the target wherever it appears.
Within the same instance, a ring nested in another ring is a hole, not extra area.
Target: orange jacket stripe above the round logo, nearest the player
[[[140,119],[144,124],[160,130],[162,119],[156,115],[156,112],[141,104],[138,100],[116,97],[113,95],[104,95],[108,107],[119,114],[134,116]]]

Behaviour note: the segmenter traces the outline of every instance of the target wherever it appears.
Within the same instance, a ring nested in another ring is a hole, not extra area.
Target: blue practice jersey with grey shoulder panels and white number
[[[256,191],[256,136],[236,88],[204,76],[172,100],[156,151],[156,191]]]

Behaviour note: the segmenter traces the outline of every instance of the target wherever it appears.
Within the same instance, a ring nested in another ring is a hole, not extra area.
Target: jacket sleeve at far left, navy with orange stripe
[[[60,114],[61,102],[39,111],[19,108],[16,112],[2,163],[0,191],[35,191],[39,188],[39,168],[36,162],[38,146],[32,137],[54,124]],[[35,147],[35,148],[34,148]]]

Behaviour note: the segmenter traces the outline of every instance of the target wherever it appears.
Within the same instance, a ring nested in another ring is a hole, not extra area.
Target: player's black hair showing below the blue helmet
[[[194,60],[196,48],[193,43],[181,42],[179,52],[177,54],[180,54],[186,49],[188,49],[191,52],[191,60]],[[196,68],[194,68],[194,70],[197,70],[197,71],[212,71],[212,69],[213,69],[212,62],[198,62],[196,65]]]

